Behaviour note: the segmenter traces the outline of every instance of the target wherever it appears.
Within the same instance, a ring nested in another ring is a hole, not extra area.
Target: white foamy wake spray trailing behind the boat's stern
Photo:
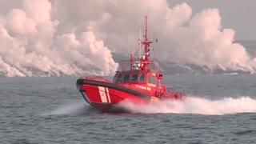
[[[184,101],[158,101],[147,105],[137,105],[130,101],[118,104],[131,113],[141,114],[205,114],[223,115],[238,113],[256,113],[256,99],[242,96],[240,98],[188,97]]]

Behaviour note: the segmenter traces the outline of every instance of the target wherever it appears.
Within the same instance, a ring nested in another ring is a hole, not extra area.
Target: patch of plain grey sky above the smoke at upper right
[[[186,2],[196,14],[207,8],[218,8],[222,27],[236,31],[239,40],[256,40],[256,0],[168,0],[174,4]]]

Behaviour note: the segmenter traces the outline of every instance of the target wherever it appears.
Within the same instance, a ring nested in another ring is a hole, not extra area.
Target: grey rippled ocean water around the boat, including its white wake
[[[0,143],[255,143],[256,75],[165,75],[183,102],[100,114],[76,77],[0,78]],[[111,79],[111,78],[110,78]]]

